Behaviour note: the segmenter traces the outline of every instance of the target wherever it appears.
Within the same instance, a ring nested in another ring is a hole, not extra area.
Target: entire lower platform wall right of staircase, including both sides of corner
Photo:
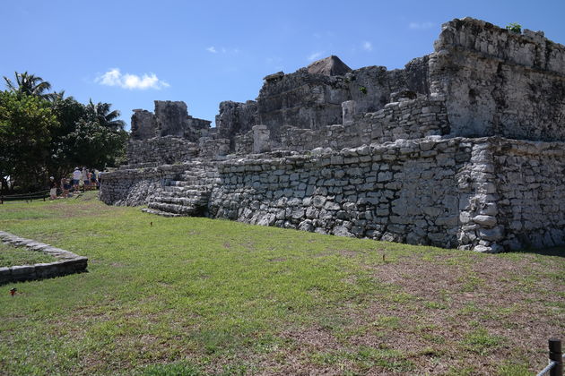
[[[565,244],[565,144],[502,138],[371,144],[219,165],[210,216],[500,252]]]

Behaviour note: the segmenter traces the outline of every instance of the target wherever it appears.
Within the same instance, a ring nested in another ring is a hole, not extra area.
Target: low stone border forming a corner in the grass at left
[[[20,236],[0,231],[0,240],[6,244],[26,247],[32,251],[45,252],[57,259],[56,262],[40,263],[34,265],[17,265],[9,268],[0,268],[0,285],[12,282],[22,282],[33,279],[54,278],[68,274],[86,271],[88,259],[83,256],[52,247]]]

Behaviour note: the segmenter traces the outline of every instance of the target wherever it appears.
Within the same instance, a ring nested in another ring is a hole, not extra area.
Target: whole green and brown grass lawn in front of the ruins
[[[0,229],[89,258],[88,273],[0,286],[3,375],[519,376],[565,337],[563,249],[161,218],[96,192],[5,203]]]

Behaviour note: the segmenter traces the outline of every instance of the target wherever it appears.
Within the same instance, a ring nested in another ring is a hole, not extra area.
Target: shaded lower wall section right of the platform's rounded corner
[[[565,144],[492,142],[497,225],[510,249],[565,244]]]

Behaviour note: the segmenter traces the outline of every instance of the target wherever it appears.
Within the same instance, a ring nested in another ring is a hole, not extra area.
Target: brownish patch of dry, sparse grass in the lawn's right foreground
[[[498,373],[500,364],[526,363],[530,372],[546,365],[547,339],[565,331],[559,306],[565,286],[552,278],[563,272],[562,264],[548,268],[529,257],[469,260],[446,252],[426,260],[424,255],[372,265],[374,278],[387,291],[376,292],[362,308],[354,303],[336,308],[344,324],[284,330],[278,335],[287,344],[283,348],[242,359],[254,364],[258,375],[456,374],[465,369],[489,375]],[[388,293],[404,294],[404,300],[395,302]],[[475,344],[473,335],[484,338]],[[382,349],[393,358],[363,363],[355,358],[363,348]]]

